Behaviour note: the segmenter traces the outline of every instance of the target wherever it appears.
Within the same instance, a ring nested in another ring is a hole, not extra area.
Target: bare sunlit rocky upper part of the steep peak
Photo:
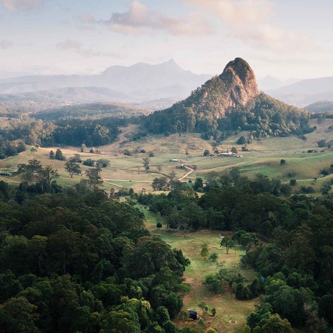
[[[216,118],[225,116],[228,109],[245,105],[259,94],[256,77],[242,58],[230,61],[223,73],[212,77],[182,102],[197,113],[210,113]]]

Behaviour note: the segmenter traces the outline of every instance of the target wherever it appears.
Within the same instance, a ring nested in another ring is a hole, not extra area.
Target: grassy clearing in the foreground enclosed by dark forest
[[[241,332],[246,324],[246,317],[254,310],[259,300],[238,301],[230,289],[227,289],[223,295],[213,295],[207,291],[203,281],[206,274],[218,272],[222,267],[239,267],[240,256],[245,253],[244,249],[236,247],[235,250],[226,254],[225,249],[220,247],[221,238],[218,231],[205,230],[184,234],[180,231],[166,231],[164,227],[158,231],[156,229],[156,215],[142,205],[138,205],[138,207],[145,213],[147,229],[153,234],[159,234],[172,248],[181,249],[184,255],[191,260],[191,265],[186,268],[184,273],[185,282],[191,285],[190,293],[183,298],[184,309],[195,308],[202,314],[198,308],[198,303],[201,301],[205,301],[210,308],[216,308],[216,316],[207,316],[205,326],[200,326],[198,321],[187,321],[185,324],[199,325],[201,328],[213,327],[217,332]],[[220,233],[222,232],[220,231]],[[230,232],[223,232],[223,235],[230,234]],[[200,255],[201,246],[204,243],[208,244],[210,254],[215,252],[218,255],[217,262],[204,259]],[[251,280],[255,274],[253,270],[244,270],[240,267],[239,271],[248,280]],[[179,327],[183,326],[182,322],[178,320],[175,322]]]

